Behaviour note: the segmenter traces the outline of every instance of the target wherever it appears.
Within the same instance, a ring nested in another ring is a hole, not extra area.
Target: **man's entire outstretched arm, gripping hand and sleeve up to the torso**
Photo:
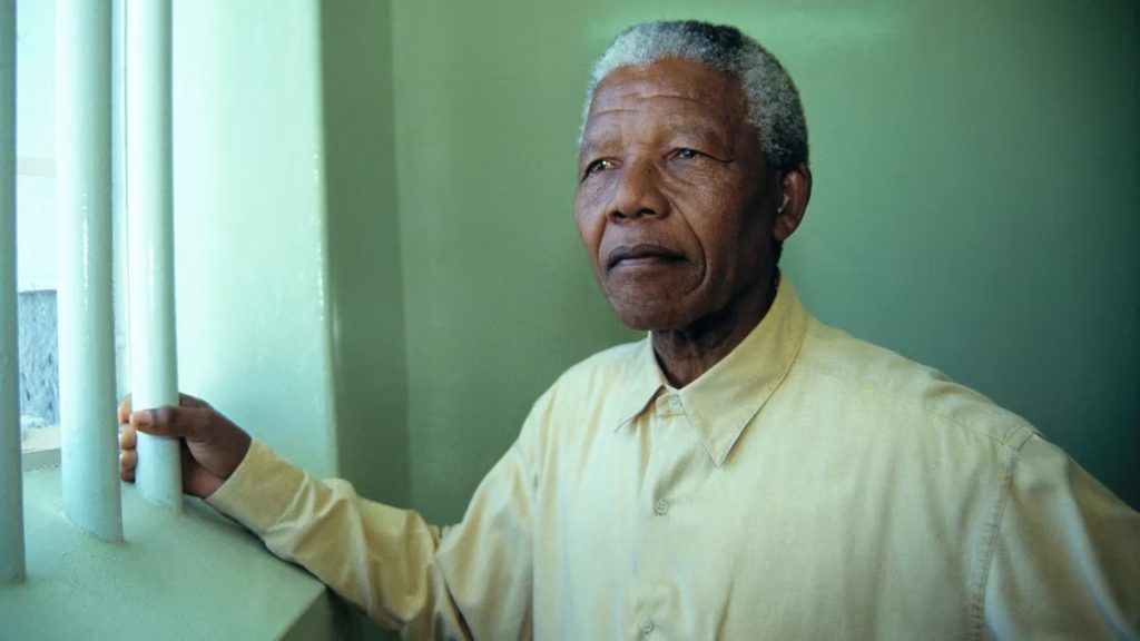
[[[463,522],[440,529],[416,512],[359,497],[343,480],[312,478],[198,399],[180,404],[132,414],[124,400],[124,480],[133,479],[136,430],[181,438],[187,493],[377,624],[407,639],[530,636],[534,474],[524,436],[483,479]]]

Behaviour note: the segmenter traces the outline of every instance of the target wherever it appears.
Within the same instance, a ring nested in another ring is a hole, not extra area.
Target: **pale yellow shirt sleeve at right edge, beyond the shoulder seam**
[[[1140,638],[1140,514],[1039,436],[1009,478],[984,611],[995,639]]]

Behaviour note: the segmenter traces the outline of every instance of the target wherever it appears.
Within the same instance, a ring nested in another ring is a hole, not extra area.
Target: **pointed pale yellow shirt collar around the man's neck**
[[[689,422],[715,465],[727,459],[744,428],[788,375],[807,332],[807,313],[796,289],[781,277],[764,318],[728,356],[677,393]],[[652,341],[646,338],[627,363],[619,421],[637,417],[666,386]]]

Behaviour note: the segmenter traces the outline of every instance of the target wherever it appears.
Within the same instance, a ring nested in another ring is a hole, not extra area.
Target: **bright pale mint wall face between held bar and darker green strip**
[[[173,24],[180,387],[335,474],[316,2],[176,2]]]

